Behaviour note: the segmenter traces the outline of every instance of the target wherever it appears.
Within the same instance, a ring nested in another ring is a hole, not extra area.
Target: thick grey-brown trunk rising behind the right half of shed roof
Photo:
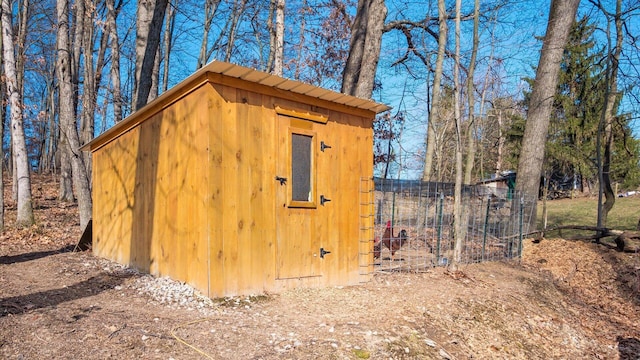
[[[343,93],[371,98],[386,17],[384,0],[358,0],[358,10],[351,25],[349,57],[342,74]]]

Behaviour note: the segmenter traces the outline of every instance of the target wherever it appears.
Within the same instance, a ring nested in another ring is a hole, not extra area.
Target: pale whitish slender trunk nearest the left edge
[[[17,88],[16,60],[13,50],[13,27],[11,23],[11,1],[2,0],[2,48],[7,86],[7,97],[11,107],[11,140],[13,157],[15,159],[15,173],[17,178],[18,211],[17,227],[27,227],[34,223],[33,205],[31,199],[31,177],[29,173],[29,158],[27,143],[22,121],[22,101]]]

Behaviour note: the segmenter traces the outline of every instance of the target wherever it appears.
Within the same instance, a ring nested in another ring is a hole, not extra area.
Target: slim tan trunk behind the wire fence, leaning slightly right
[[[436,70],[433,74],[433,95],[431,96],[431,111],[427,124],[427,150],[424,156],[424,169],[422,181],[431,181],[433,171],[433,157],[436,149],[436,125],[441,121],[440,99],[442,98],[440,83],[442,82],[442,67],[444,64],[445,50],[447,47],[447,10],[444,0],[438,0],[438,55],[436,58]]]

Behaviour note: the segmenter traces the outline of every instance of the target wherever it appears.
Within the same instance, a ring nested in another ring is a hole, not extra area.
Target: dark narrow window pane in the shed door
[[[291,174],[293,201],[311,201],[311,136],[292,134]]]

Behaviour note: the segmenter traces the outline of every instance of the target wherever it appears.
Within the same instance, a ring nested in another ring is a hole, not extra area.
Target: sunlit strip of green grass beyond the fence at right
[[[596,226],[597,198],[576,198],[547,201],[547,227],[559,225]],[[640,219],[640,196],[616,198],[607,217],[606,227],[617,230],[635,230]],[[538,228],[542,228],[542,202],[538,203]],[[566,232],[571,235],[577,232]]]

